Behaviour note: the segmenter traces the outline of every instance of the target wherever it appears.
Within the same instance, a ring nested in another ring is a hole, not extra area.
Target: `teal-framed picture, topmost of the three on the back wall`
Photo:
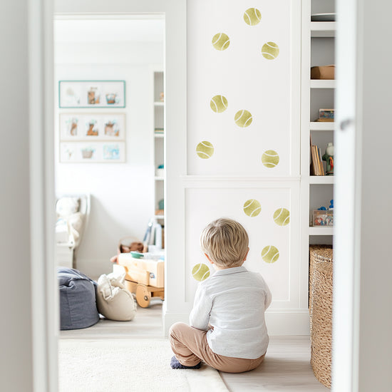
[[[59,108],[125,108],[125,81],[59,81]]]

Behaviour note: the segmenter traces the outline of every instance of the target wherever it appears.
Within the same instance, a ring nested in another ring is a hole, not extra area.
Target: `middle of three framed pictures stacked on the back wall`
[[[123,113],[61,113],[60,140],[125,140]]]

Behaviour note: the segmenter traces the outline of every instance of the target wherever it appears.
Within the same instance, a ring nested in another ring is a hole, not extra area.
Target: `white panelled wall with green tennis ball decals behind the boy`
[[[253,26],[244,21],[251,6],[261,13]],[[166,326],[176,318],[186,321],[198,283],[192,273],[199,264],[214,272],[200,249],[202,229],[212,220],[230,217],[249,232],[244,266],[260,272],[272,289],[270,334],[309,333],[308,254],[299,249],[300,11],[299,1],[187,1],[187,140],[182,147],[187,167],[177,196],[179,205],[184,204],[185,222],[184,265],[178,275],[185,282],[176,287],[181,316],[168,311]],[[224,50],[213,46],[219,33],[229,37]],[[279,47],[275,58],[262,55],[269,42]],[[210,107],[211,99],[220,95],[225,97],[221,112]],[[252,114],[246,127],[235,122],[239,110]],[[203,148],[199,143],[209,146],[210,158],[197,154]],[[279,155],[274,167],[262,162],[269,150]],[[249,216],[244,205],[252,199],[261,212]],[[274,222],[282,208],[290,214],[287,225]],[[279,249],[279,259],[272,263],[262,258],[269,246]]]

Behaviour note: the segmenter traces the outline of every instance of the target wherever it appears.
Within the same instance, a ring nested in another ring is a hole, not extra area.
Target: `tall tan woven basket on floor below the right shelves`
[[[314,376],[331,387],[332,351],[332,249],[331,257],[314,254],[311,279],[311,367]]]

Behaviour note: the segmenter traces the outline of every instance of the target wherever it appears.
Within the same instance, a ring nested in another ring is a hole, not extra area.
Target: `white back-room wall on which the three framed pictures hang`
[[[77,268],[92,277],[110,272],[109,258],[125,236],[143,239],[154,214],[153,66],[162,67],[163,43],[57,43],[59,80],[124,80],[126,107],[58,109],[58,113],[125,113],[125,163],[59,163],[56,192],[91,193],[91,216],[78,251]],[[57,96],[57,94],[56,94]],[[58,128],[56,126],[56,143]]]

